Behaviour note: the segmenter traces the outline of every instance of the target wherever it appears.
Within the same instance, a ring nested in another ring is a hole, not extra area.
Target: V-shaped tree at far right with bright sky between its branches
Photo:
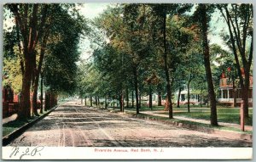
[[[235,56],[244,100],[244,116],[248,118],[248,91],[253,61],[253,4],[224,4],[218,5],[218,9],[228,25],[230,34],[228,43],[232,45]],[[244,78],[242,71],[244,71]]]

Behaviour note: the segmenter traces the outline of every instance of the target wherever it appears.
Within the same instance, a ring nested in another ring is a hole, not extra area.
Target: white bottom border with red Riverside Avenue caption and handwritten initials
[[[3,147],[3,159],[252,159],[253,148]],[[26,150],[29,149],[27,152]],[[133,149],[134,151],[131,151]],[[127,152],[123,152],[123,151]],[[27,154],[22,156],[22,154]],[[33,156],[32,156],[32,155]]]

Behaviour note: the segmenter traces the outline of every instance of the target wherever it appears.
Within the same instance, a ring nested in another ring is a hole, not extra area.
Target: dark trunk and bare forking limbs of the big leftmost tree
[[[24,74],[22,75],[22,87],[20,98],[20,109],[18,111],[19,120],[27,120],[30,117],[31,112],[31,100],[30,100],[30,88],[32,81],[32,70],[35,64],[35,47],[38,42],[38,34],[42,34],[38,30],[38,4],[32,5],[32,16],[28,18],[28,5],[24,7],[24,13],[20,14],[19,4],[9,4],[11,12],[15,15],[16,24],[19,26],[19,30],[22,36],[23,44],[23,56],[24,56]],[[22,15],[24,17],[22,17]],[[44,17],[45,14],[43,14]],[[29,21],[29,25],[27,22]],[[44,24],[42,24],[44,25]],[[28,32],[29,29],[29,32]],[[22,71],[22,67],[21,67]]]

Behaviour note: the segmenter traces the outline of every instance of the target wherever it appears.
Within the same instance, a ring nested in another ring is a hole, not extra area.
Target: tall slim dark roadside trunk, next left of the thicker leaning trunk
[[[166,90],[167,90],[167,98],[168,98],[168,109],[169,109],[169,119],[172,119],[172,92],[171,92],[171,81],[170,81],[170,75],[169,75],[169,67],[167,63],[167,45],[166,45],[166,14],[163,17],[163,42],[164,42],[164,54],[163,59],[165,62],[165,73],[166,73]]]

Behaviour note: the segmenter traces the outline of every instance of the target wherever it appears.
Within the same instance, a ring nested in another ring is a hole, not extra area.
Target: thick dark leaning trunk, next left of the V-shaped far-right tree
[[[208,46],[208,20],[207,20],[207,5],[206,4],[199,4],[201,6],[201,16],[202,16],[202,34],[203,34],[203,53],[204,53],[204,64],[206,68],[206,75],[207,75],[207,84],[208,84],[208,92],[211,101],[211,125],[218,126],[218,119],[217,119],[217,109],[216,109],[216,98],[214,93],[214,87],[212,83],[212,71],[211,71],[211,64],[210,64],[210,54],[209,54],[209,46]]]

